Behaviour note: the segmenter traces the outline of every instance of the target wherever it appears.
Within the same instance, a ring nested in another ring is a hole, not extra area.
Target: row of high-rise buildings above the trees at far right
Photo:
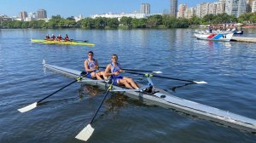
[[[171,15],[181,18],[191,18],[193,15],[204,17],[207,14],[227,13],[239,17],[241,14],[256,12],[256,0],[219,0],[215,3],[200,3],[196,7],[188,8],[187,4],[179,4],[177,0],[170,0]]]

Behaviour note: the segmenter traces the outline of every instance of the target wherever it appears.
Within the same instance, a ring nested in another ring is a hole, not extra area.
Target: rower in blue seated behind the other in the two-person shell
[[[97,60],[93,58],[93,52],[88,52],[88,59],[84,60],[84,68],[85,72],[90,72],[86,77],[89,78],[97,78],[97,80],[108,79],[108,77],[104,77],[104,72],[99,71],[99,64]],[[101,77],[102,76],[102,77]]]

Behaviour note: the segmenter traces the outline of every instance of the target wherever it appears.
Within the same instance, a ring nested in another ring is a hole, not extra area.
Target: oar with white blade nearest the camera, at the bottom
[[[102,102],[101,102],[101,104],[99,105],[99,107],[97,108],[97,110],[96,110],[94,116],[91,118],[90,123],[89,123],[84,129],[82,129],[82,130],[80,131],[80,133],[76,136],[77,139],[86,141],[86,140],[88,140],[88,139],[90,138],[90,135],[91,135],[91,134],[93,133],[93,131],[94,131],[94,128],[91,127],[91,124],[93,123],[93,120],[95,119],[96,114],[100,111],[100,108],[102,107],[102,104],[103,104],[104,100],[106,99],[106,97],[107,97],[107,95],[108,95],[108,93],[109,93],[109,90],[112,89],[112,87],[113,87],[112,85],[113,85],[113,82],[112,82],[111,85],[108,87],[107,93],[104,95],[104,98],[102,99]]]

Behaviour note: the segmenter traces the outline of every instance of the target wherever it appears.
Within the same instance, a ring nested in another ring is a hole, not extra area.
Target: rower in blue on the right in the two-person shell
[[[139,89],[130,77],[119,76],[120,72],[124,72],[118,63],[118,56],[113,54],[111,57],[112,63],[108,64],[105,70],[105,76],[113,78],[113,85],[125,85],[127,89]]]

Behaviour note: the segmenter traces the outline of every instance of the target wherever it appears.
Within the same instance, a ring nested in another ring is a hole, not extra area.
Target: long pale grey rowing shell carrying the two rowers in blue
[[[52,66],[46,64],[45,62],[43,62],[43,65],[49,70],[59,72],[61,74],[67,75],[68,77],[77,78],[81,74],[80,71],[64,68],[61,66]],[[84,77],[84,82],[88,84],[96,84],[105,89],[107,89],[109,86],[109,83],[106,82],[88,82],[90,80],[90,78]],[[83,80],[81,82],[83,82]],[[139,84],[139,86],[142,87],[143,85]],[[118,90],[120,91],[125,89],[118,86],[113,86],[113,91]],[[215,123],[224,124],[225,126],[256,133],[256,120],[252,118],[243,117],[241,115],[223,111],[212,106],[202,105],[191,100],[178,98],[177,96],[167,93],[163,89],[155,88],[155,92],[150,94],[133,90],[127,91],[127,89],[126,91],[122,91],[121,93],[127,95],[128,97],[131,97],[132,99],[140,100],[157,106],[171,108],[177,110],[178,112],[184,112],[189,115],[210,120]]]

